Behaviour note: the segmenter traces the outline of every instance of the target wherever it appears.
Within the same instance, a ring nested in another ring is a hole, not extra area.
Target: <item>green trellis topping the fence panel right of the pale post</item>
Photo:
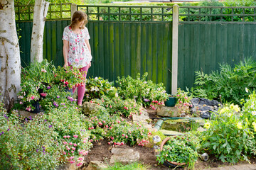
[[[256,6],[180,6],[180,22],[255,22]]]

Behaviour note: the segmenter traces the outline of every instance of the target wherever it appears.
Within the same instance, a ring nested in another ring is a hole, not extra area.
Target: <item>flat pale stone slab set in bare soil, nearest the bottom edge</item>
[[[114,164],[114,162],[130,164],[139,161],[139,152],[134,152],[133,149],[113,147],[111,152],[113,155],[110,158],[110,164]]]

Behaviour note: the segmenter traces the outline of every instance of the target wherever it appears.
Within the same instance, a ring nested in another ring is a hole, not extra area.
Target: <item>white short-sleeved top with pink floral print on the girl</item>
[[[82,68],[92,61],[92,55],[87,47],[85,40],[89,40],[88,29],[81,29],[79,34],[73,32],[70,26],[64,28],[63,40],[67,40],[68,45],[68,64],[73,67]]]

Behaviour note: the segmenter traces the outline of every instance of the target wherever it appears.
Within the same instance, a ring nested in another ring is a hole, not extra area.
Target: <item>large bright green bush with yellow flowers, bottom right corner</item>
[[[241,112],[238,105],[225,106],[205,125],[208,130],[202,134],[202,145],[222,162],[248,161],[247,156],[256,154],[255,99],[253,92]]]

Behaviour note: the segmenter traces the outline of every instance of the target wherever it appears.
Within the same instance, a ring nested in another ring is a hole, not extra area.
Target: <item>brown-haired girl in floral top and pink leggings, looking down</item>
[[[70,26],[63,32],[63,67],[76,67],[86,79],[87,71],[91,66],[92,55],[90,50],[88,29],[85,27],[87,15],[82,11],[75,11]],[[73,93],[75,88],[73,88]],[[78,86],[78,106],[82,106],[85,95],[85,84]]]

